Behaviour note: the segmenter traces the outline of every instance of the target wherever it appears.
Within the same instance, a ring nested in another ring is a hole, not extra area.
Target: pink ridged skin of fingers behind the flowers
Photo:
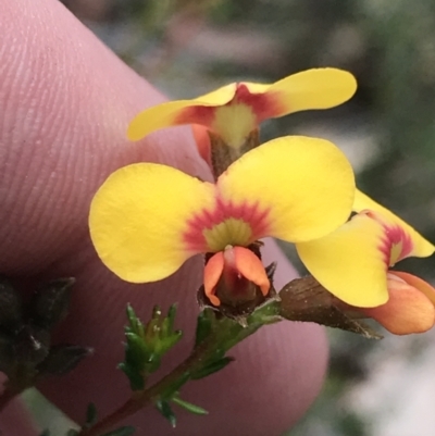
[[[151,285],[122,282],[99,261],[87,215],[94,192],[115,169],[162,162],[210,178],[188,127],[138,142],[125,139],[128,121],[163,101],[57,0],[0,0],[0,273],[26,284],[75,276],[71,314],[59,341],[90,346],[95,354],[41,390],[73,420],[94,401],[103,416],[128,397],[122,360],[124,310],[145,319],[154,303],[179,301],[186,340],[170,353],[166,370],[191,346],[201,282],[200,258],[173,277]],[[151,187],[152,188],[152,187]],[[277,285],[295,272],[268,241],[265,261],[279,261]],[[281,323],[261,329],[231,353],[224,371],[188,385],[184,398],[210,410],[207,418],[178,411],[178,427],[152,409],[128,423],[138,434],[279,435],[315,398],[327,359],[323,329]],[[0,419],[8,435],[36,435],[15,400]]]

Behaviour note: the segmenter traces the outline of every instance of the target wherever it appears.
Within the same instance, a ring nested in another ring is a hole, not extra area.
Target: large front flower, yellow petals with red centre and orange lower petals
[[[221,253],[206,266],[213,302],[231,269],[269,290],[261,262],[238,247],[266,236],[321,238],[348,220],[353,195],[351,166],[333,144],[284,137],[244,154],[215,184],[156,163],[120,169],[96,194],[89,227],[102,262],[133,283],[165,278],[195,254]]]

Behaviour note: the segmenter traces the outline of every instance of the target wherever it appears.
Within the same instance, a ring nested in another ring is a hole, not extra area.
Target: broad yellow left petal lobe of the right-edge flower
[[[386,253],[380,249],[384,228],[365,214],[334,233],[297,244],[299,257],[331,294],[351,306],[370,308],[388,299]]]

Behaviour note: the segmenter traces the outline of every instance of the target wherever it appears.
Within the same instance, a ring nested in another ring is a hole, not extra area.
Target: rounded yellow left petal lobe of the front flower
[[[89,228],[102,262],[133,283],[169,276],[195,252],[183,240],[187,221],[213,208],[214,186],[178,170],[137,163],[117,170],[94,197]]]

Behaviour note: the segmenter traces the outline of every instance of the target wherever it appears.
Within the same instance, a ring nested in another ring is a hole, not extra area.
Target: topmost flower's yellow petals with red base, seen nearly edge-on
[[[262,121],[336,107],[356,89],[355,77],[336,68],[308,70],[271,85],[231,84],[192,100],[170,101],[140,112],[128,126],[127,137],[138,140],[163,127],[200,124],[239,148]]]

